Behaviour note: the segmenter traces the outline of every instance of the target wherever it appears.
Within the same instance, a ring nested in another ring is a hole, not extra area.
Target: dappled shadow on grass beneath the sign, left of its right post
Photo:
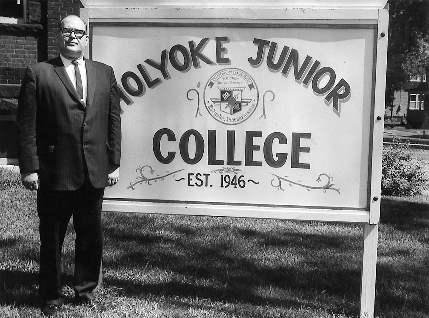
[[[351,265],[342,262],[347,257],[345,255],[355,253],[350,252],[350,248],[358,250],[361,245],[360,239],[353,235],[273,233],[231,226],[221,226],[222,231],[214,231],[212,228],[194,229],[191,225],[173,224],[173,234],[183,235],[172,239],[168,237],[168,230],[162,235],[142,235],[106,225],[104,233],[109,237],[108,241],[122,242],[132,248],[118,257],[105,257],[105,269],[134,271],[150,263],[152,269],[145,273],[148,276],[156,275],[154,271],[160,271],[161,275],[174,273],[171,278],[155,284],[152,282],[158,279],[151,277],[147,278],[147,283],[121,278],[116,273],[114,277],[106,278],[107,284],[123,286],[129,296],[197,297],[296,309],[332,306],[329,309],[332,312],[349,312],[351,315],[356,315],[359,310],[356,303],[360,294],[360,260],[352,260]],[[139,226],[145,228],[145,217],[139,217]],[[208,234],[211,241],[200,242],[207,232],[211,232]],[[250,248],[255,248],[255,254],[261,253],[257,260],[251,252],[237,247],[243,241],[253,242],[254,247]],[[270,251],[264,260],[262,254],[266,248]],[[328,255],[320,253],[321,250],[329,250]],[[311,254],[309,258],[302,256],[308,253]],[[356,253],[360,255],[360,251]],[[298,258],[294,259],[296,255],[292,254],[298,254]],[[288,258],[292,260],[287,261]],[[270,289],[275,289],[276,293],[267,294],[266,290]],[[317,297],[320,299],[314,301]],[[341,303],[344,298],[347,306]]]

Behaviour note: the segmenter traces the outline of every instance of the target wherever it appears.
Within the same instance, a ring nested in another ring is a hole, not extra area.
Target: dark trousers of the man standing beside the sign
[[[73,288],[82,300],[92,300],[98,284],[103,254],[101,207],[104,188],[96,189],[89,178],[78,190],[37,190],[40,233],[39,295],[43,303],[60,304],[61,249],[73,214],[76,232]]]

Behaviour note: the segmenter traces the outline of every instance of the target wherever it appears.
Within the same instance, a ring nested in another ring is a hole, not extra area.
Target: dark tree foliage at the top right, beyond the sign
[[[389,0],[386,106],[410,75],[429,66],[429,0]]]

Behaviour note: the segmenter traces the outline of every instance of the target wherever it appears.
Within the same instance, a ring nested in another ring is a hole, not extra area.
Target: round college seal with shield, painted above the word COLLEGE
[[[226,125],[236,125],[254,113],[259,92],[248,73],[238,68],[225,68],[207,81],[203,99],[214,119]]]

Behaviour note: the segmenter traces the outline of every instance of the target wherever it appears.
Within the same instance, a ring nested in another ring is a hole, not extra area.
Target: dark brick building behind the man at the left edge
[[[28,64],[58,55],[55,34],[80,0],[0,1],[0,165],[17,163],[15,113]]]

